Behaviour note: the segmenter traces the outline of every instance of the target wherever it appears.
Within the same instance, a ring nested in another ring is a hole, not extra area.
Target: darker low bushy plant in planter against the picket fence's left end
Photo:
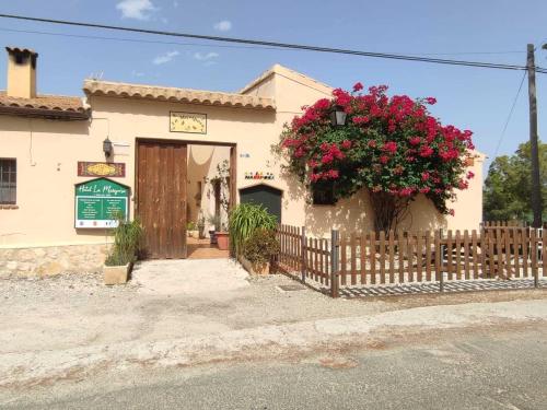
[[[241,261],[243,267],[254,274],[268,274],[270,261],[279,253],[276,231],[258,229],[245,241]]]

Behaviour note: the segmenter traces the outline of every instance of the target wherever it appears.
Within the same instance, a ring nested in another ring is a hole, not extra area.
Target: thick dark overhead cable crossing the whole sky
[[[133,28],[133,27],[114,26],[114,25],[95,24],[95,23],[73,22],[73,21],[66,21],[66,20],[28,17],[28,16],[24,16],[24,15],[15,15],[15,14],[0,14],[0,17],[14,19],[14,20],[21,20],[21,21],[39,22],[39,23],[71,25],[71,26],[79,26],[79,27],[115,30],[115,31],[140,33],[140,34],[153,34],[153,35],[160,35],[160,36],[185,37],[185,38],[206,39],[206,40],[212,40],[212,42],[248,44],[248,45],[253,45],[253,46],[269,46],[269,47],[287,48],[287,49],[301,49],[301,50],[319,51],[319,52],[333,52],[333,54],[352,55],[352,56],[361,56],[361,57],[375,57],[375,58],[386,58],[386,59],[395,59],[395,60],[420,61],[420,62],[430,62],[430,63],[439,63],[439,65],[465,66],[465,67],[489,68],[489,69],[500,69],[500,70],[527,70],[527,68],[525,66],[516,66],[516,65],[502,65],[502,63],[481,62],[481,61],[427,58],[427,57],[417,57],[417,56],[398,55],[398,54],[359,51],[359,50],[351,50],[351,49],[307,46],[307,45],[299,45],[299,44],[290,44],[290,43],[266,42],[266,40],[256,40],[256,39],[247,39],[247,38],[236,38],[236,37],[208,36],[208,35],[189,34],[189,33],[165,32],[165,31],[158,31],[158,30],[146,30],[146,28]],[[537,68],[536,71],[540,72],[540,73],[547,73],[547,70],[542,69],[542,68]]]

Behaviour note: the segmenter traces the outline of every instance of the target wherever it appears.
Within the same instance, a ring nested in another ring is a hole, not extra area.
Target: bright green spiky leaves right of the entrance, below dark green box
[[[275,230],[277,219],[266,208],[255,203],[240,203],[230,213],[230,244],[241,255],[245,241],[258,229]]]

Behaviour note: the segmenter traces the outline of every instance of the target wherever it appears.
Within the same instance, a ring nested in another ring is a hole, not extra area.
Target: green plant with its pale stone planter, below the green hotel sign
[[[105,284],[126,283],[132,263],[137,260],[142,226],[138,219],[131,222],[118,220],[114,229],[114,245],[103,267]]]

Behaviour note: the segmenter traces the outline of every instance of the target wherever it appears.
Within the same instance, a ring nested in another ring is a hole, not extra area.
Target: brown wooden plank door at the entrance
[[[183,143],[138,142],[137,214],[146,257],[186,258],[186,152]]]

